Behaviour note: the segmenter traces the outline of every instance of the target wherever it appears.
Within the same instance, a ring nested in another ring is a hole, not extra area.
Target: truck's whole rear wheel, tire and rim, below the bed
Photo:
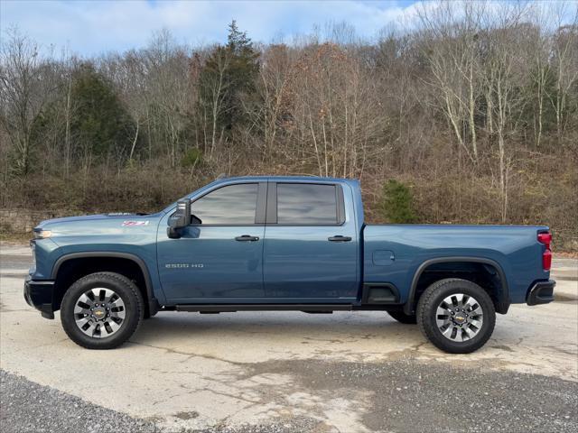
[[[434,282],[417,304],[417,323],[433,345],[451,354],[469,354],[489,340],[496,324],[486,290],[461,279]]]

